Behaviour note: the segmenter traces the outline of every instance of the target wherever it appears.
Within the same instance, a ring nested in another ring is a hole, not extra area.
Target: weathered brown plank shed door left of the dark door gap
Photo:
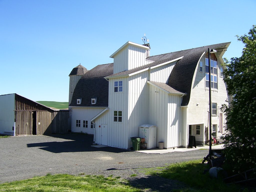
[[[33,134],[33,112],[17,111],[16,112],[16,135]]]

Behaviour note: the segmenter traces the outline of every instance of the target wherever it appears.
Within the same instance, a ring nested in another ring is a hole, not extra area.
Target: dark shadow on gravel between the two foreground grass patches
[[[129,185],[145,190],[150,189],[146,191],[159,191],[159,192],[165,192],[165,191],[172,191],[173,189],[182,189],[185,187],[185,184],[172,179],[166,179],[159,176],[146,176],[141,178],[130,178]]]

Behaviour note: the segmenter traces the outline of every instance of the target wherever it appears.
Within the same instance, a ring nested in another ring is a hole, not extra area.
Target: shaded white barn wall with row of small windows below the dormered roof
[[[104,107],[72,107],[71,131],[94,134],[91,119],[104,109]],[[80,127],[76,126],[76,120],[80,120]],[[83,127],[83,121],[88,121],[88,128]]]

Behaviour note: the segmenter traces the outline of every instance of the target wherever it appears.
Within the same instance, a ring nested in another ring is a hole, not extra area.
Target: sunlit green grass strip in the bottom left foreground
[[[51,175],[0,184],[0,191],[8,192],[141,192],[125,181],[104,176],[73,176],[67,174]]]

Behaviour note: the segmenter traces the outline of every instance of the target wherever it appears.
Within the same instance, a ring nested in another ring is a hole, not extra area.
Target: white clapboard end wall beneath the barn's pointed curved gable
[[[199,71],[199,62],[195,70],[195,74],[192,81],[190,101],[187,108],[187,127],[192,126],[192,134],[196,136],[196,141],[205,141],[207,138],[205,134],[209,135],[209,132],[205,133],[205,127],[209,125],[209,88],[205,87],[205,54],[202,55],[200,61],[202,62],[202,72]],[[222,104],[228,104],[226,101],[228,93],[226,90],[226,84],[223,81],[223,77],[220,77],[221,58],[217,59],[217,83],[218,89],[211,89],[211,101],[217,103],[217,115],[212,115],[212,125],[217,125],[217,132],[220,131],[220,107]],[[224,114],[223,119],[223,131],[224,131]],[[200,125],[200,135],[196,135],[196,125]],[[208,130],[209,131],[209,130]],[[218,137],[222,133],[218,133]]]

